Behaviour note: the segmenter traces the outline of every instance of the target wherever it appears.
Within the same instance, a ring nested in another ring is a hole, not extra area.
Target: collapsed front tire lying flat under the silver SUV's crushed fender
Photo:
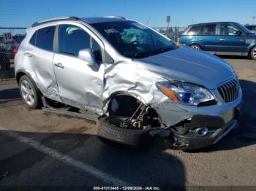
[[[145,145],[152,138],[148,129],[127,129],[113,125],[117,120],[127,117],[103,117],[98,122],[98,137],[104,142],[117,142],[128,146]]]

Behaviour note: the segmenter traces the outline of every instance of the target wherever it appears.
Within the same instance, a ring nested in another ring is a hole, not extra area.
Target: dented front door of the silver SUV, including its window
[[[79,26],[59,26],[59,52],[54,55],[53,68],[65,104],[100,114],[105,67],[98,42]],[[86,48],[94,51],[95,66],[78,58],[79,50]]]

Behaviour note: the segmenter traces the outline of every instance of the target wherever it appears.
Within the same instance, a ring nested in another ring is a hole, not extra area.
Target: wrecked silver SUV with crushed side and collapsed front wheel
[[[34,23],[15,76],[29,107],[47,100],[93,112],[98,136],[121,144],[159,135],[180,149],[206,147],[236,126],[244,105],[228,63],[124,17]]]

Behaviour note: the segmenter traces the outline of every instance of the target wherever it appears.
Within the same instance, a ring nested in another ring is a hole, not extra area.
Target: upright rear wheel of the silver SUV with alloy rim
[[[41,98],[37,92],[37,87],[35,87],[28,76],[24,75],[20,77],[19,87],[20,95],[27,106],[31,109],[37,109],[41,106]]]

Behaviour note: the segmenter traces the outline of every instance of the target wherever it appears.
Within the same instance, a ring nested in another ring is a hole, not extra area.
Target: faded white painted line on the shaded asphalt
[[[1,128],[1,130],[4,130],[4,128]],[[19,133],[15,133],[12,131],[7,131],[6,129],[4,131],[1,131],[6,136],[11,137],[12,139],[15,139],[17,141],[20,141],[23,144],[28,145],[29,147],[33,147],[34,149],[37,149],[40,152],[45,153],[46,155],[56,158],[57,160],[66,163],[67,165],[72,165],[75,168],[80,169],[81,171],[84,171],[91,176],[96,177],[97,179],[100,179],[110,185],[116,185],[116,186],[132,186],[129,182],[124,182],[110,174],[107,174],[103,171],[100,171],[98,168],[95,168],[89,164],[83,163],[79,160],[75,160],[72,157],[69,157],[68,155],[64,155],[61,152],[58,152],[54,149],[50,149],[49,147],[45,147],[44,145],[40,144],[38,141],[34,141],[32,139],[26,138],[24,136],[20,136]]]

